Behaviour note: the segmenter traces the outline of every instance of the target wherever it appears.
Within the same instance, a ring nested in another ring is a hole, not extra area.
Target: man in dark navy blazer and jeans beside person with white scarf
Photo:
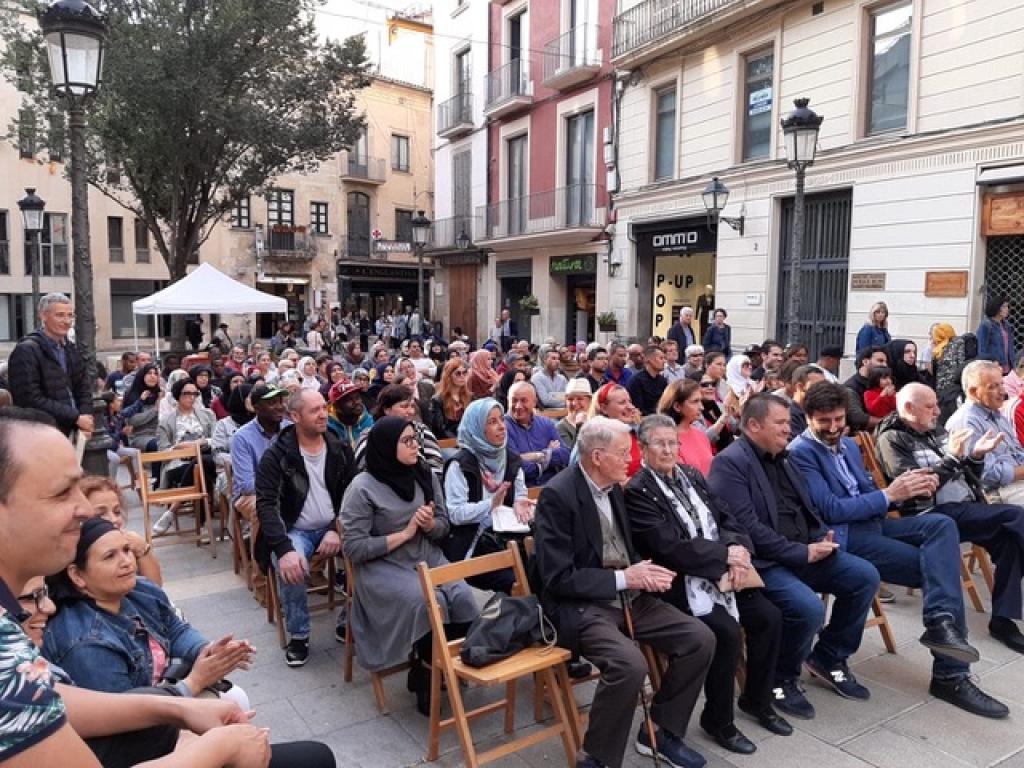
[[[750,535],[765,595],[782,611],[773,703],[794,717],[810,719],[814,707],[799,684],[805,663],[825,671],[841,695],[870,695],[850,673],[847,659],[860,646],[879,572],[869,562],[839,551],[833,531],[814,508],[787,458],[785,400],[768,393],[751,397],[739,424],[743,436],[715,457],[708,484]],[[821,592],[836,596],[823,629]]]

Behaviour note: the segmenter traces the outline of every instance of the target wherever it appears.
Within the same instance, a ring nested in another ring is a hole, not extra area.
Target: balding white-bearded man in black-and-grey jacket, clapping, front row
[[[904,385],[896,397],[896,413],[879,426],[879,464],[890,481],[914,469],[930,469],[936,474],[939,489],[935,496],[903,502],[899,512],[951,517],[962,541],[989,551],[996,577],[988,631],[1008,647],[1024,653],[1024,633],[1015,623],[1021,618],[1024,509],[1014,504],[988,504],[978,479],[985,455],[1004,435],[989,431],[968,453],[971,431],[947,434],[938,426],[939,412],[935,390],[916,382]]]

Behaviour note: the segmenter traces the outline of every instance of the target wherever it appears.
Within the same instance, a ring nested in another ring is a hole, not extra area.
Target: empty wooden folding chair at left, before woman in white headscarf
[[[194,541],[198,547],[202,544],[200,518],[205,513],[206,534],[210,539],[210,554],[216,557],[217,543],[213,538],[213,513],[210,509],[210,496],[206,489],[206,477],[203,474],[203,454],[199,444],[139,454],[139,474],[144,478],[148,472],[150,465],[164,464],[178,460],[196,462],[193,469],[191,485],[176,488],[151,489],[148,482],[139,483],[139,492],[142,497],[142,514],[145,521],[146,544],[154,547],[164,547],[169,544],[181,544]],[[151,511],[151,507],[158,506],[171,509],[172,505],[178,505],[174,508],[174,536],[161,536],[154,540],[153,512]],[[196,526],[191,532],[181,530],[178,518],[182,514],[195,515]]]

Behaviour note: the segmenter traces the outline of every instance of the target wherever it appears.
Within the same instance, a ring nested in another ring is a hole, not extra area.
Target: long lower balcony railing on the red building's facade
[[[597,184],[572,184],[480,206],[484,240],[604,226]]]

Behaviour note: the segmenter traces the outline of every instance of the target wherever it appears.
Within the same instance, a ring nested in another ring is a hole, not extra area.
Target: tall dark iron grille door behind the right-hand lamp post
[[[782,203],[776,328],[784,336],[793,258],[794,201]],[[846,295],[850,273],[850,190],[804,198],[804,255],[800,261],[800,340],[817,359],[822,347],[840,346],[846,335]]]

